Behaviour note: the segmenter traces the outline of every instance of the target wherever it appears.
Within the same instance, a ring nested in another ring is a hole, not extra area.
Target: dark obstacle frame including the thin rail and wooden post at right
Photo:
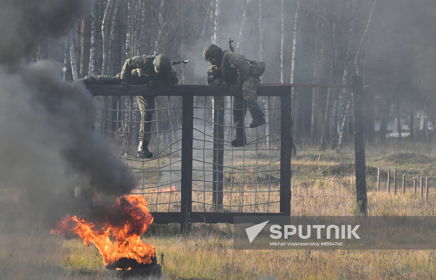
[[[164,85],[147,90],[144,85],[132,85],[120,89],[118,85],[87,85],[93,96],[182,96],[182,144],[181,144],[181,210],[180,212],[152,212],[155,223],[180,223],[181,232],[191,223],[233,223],[234,216],[290,215],[291,202],[291,155],[292,155],[292,87],[348,87],[353,89],[354,147],[356,162],[357,201],[361,201],[361,212],[366,213],[366,180],[364,158],[363,115],[361,110],[361,77],[353,76],[353,85],[286,84],[259,85],[258,96],[280,98],[280,189],[279,212],[194,212],[192,211],[193,187],[193,131],[194,96],[242,96],[242,90],[230,92],[213,85]]]

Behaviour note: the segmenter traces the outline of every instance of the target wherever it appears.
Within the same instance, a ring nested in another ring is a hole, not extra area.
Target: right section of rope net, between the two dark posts
[[[235,137],[232,111],[243,109],[232,109],[230,97],[224,100],[218,105],[221,107],[215,106],[215,112],[213,96],[198,96],[195,100],[192,209],[199,212],[279,212],[279,106],[269,105],[271,97],[258,98],[267,123],[250,129],[251,116],[247,113],[244,120],[247,144],[232,147],[231,141]],[[214,113],[219,110],[224,116],[222,122],[217,123]],[[222,139],[217,133],[214,136],[214,125],[221,126]],[[221,147],[214,146],[214,142],[220,140]],[[222,163],[214,161],[213,153],[217,150],[222,153]],[[221,172],[222,176],[214,177],[214,172]],[[221,187],[214,188],[214,184]],[[222,201],[214,201],[214,195]]]

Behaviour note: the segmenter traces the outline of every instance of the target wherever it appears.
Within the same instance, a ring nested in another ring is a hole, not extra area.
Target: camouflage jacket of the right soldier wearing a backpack
[[[250,65],[244,55],[228,52],[224,58],[224,74],[222,77],[221,63],[219,65],[211,65],[208,69],[208,84],[221,85],[226,82],[230,85],[237,84],[242,87],[245,79],[250,74]]]

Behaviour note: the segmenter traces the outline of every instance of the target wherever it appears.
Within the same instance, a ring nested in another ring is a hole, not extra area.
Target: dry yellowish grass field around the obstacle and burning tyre
[[[349,167],[334,171],[329,167],[313,167],[349,163],[353,161],[353,154],[328,154],[301,151],[300,157],[293,159],[293,172],[306,174],[309,178],[293,179],[292,215],[356,215],[353,177],[335,175],[351,174],[352,170],[347,169]],[[436,181],[430,181],[428,201],[413,195],[411,180],[406,195],[401,195],[401,184],[396,196],[388,195],[385,173],[382,191],[377,192],[375,188],[376,167],[397,169],[399,174],[408,174],[408,178],[421,175],[434,178],[435,159],[433,144],[368,147],[368,214],[435,215]],[[316,174],[324,174],[323,178],[329,180],[316,179]],[[159,195],[164,199],[169,193]],[[177,193],[171,195],[177,196]],[[259,195],[244,199],[245,202],[250,202],[249,199],[259,202],[267,198]],[[225,196],[225,201],[229,202],[229,197]],[[273,199],[269,198],[269,201]],[[275,212],[278,207],[278,204],[272,204],[269,211]],[[15,222],[8,230],[6,228],[8,225],[1,225],[0,279],[113,279],[102,265],[95,247],[84,246],[80,239],[51,236],[43,226],[27,229],[24,222]],[[436,278],[435,250],[235,250],[232,225],[198,223],[188,235],[178,232],[176,224],[152,225],[143,236],[144,242],[155,246],[159,263],[164,255],[163,271],[167,279]]]

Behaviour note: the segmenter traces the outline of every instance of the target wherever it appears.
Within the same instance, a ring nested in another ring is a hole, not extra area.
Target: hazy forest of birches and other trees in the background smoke
[[[48,38],[28,59],[61,61],[72,80],[116,75],[126,58],[165,53],[190,60],[176,65],[179,83],[205,84],[203,48],[227,49],[232,36],[235,51],[266,62],[262,82],[350,84],[361,75],[367,140],[384,142],[393,117],[408,120],[410,138],[421,140],[436,121],[434,26],[436,3],[427,0],[95,0],[68,38]],[[350,90],[292,94],[296,138],[325,148],[350,137]]]

